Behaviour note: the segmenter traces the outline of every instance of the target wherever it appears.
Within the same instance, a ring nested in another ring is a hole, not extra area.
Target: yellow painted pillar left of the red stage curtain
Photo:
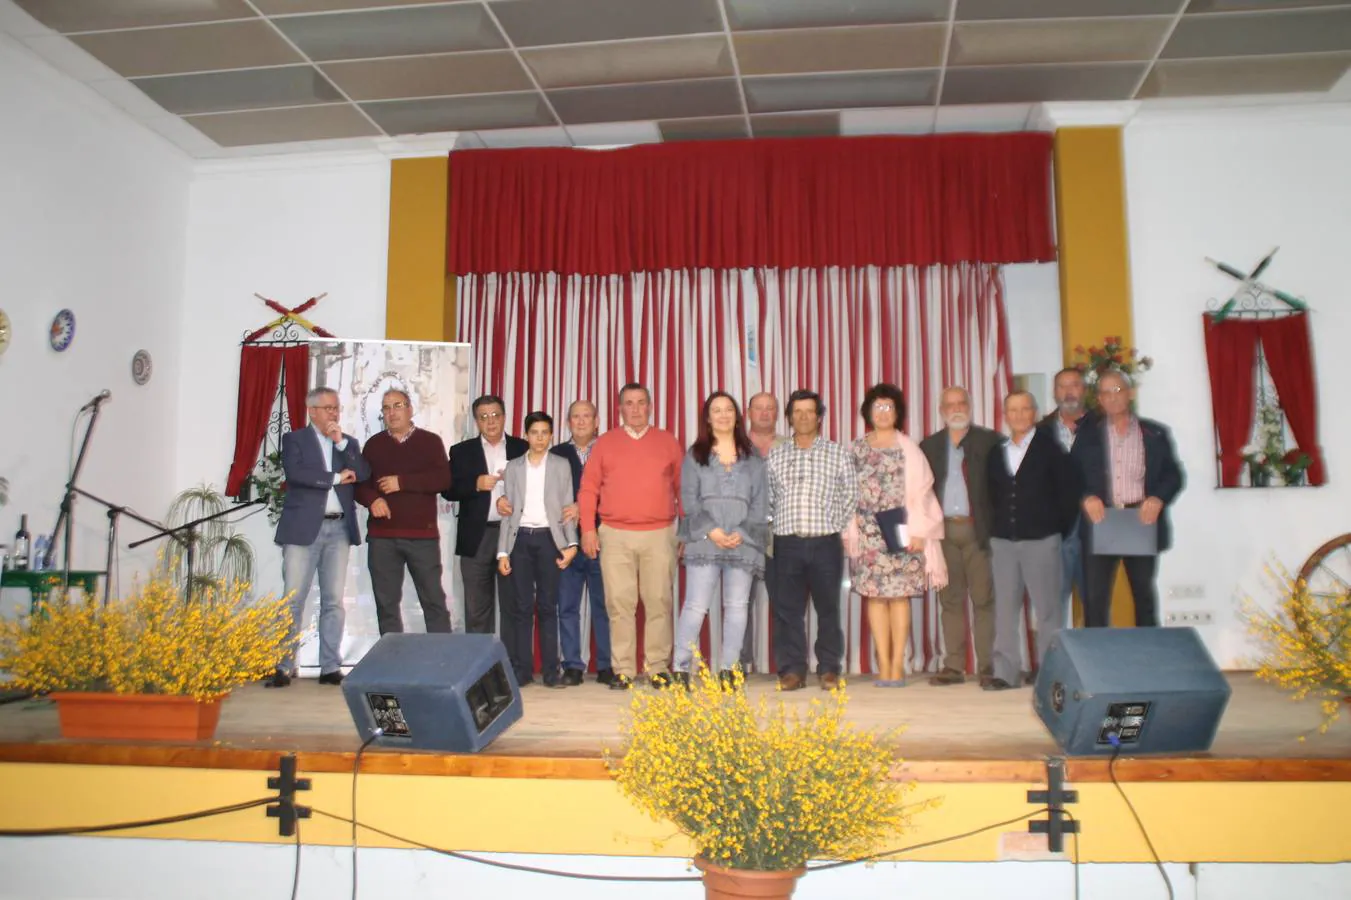
[[[385,338],[454,341],[455,280],[446,273],[446,157],[394,159],[389,178]]]

